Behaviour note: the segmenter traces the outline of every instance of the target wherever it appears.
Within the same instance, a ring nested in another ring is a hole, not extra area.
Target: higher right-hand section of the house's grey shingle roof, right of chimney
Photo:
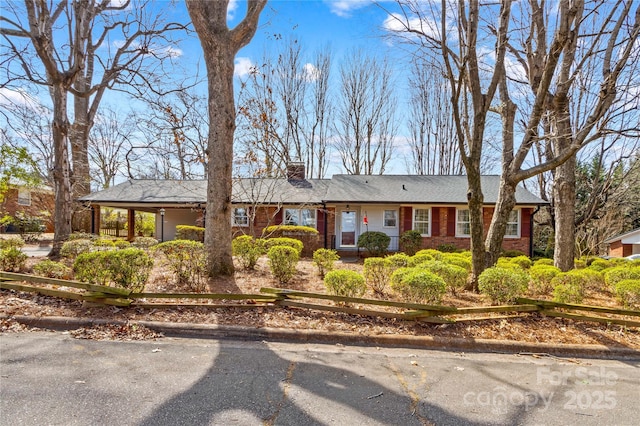
[[[486,204],[498,200],[500,176],[482,176]],[[334,175],[326,202],[467,204],[466,176]],[[518,186],[516,204],[547,204]]]

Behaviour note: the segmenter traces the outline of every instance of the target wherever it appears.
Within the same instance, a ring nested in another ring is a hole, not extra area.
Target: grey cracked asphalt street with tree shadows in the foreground
[[[636,425],[640,360],[0,335],[3,425]]]

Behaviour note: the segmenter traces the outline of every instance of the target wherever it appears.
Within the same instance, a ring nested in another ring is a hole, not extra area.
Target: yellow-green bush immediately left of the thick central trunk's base
[[[163,253],[169,268],[176,274],[178,284],[193,291],[203,291],[207,286],[207,262],[204,244],[199,241],[165,241],[153,247]]]

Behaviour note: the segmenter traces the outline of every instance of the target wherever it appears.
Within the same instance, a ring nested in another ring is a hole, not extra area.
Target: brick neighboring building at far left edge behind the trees
[[[54,192],[48,186],[28,187],[11,185],[0,204],[0,215],[16,217],[22,213],[27,217],[42,219],[44,232],[53,232],[53,212],[55,208]],[[17,232],[9,225],[4,232]]]

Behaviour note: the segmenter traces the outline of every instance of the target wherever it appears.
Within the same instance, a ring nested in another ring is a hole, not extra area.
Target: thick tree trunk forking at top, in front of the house
[[[187,0],[207,65],[209,139],[207,144],[207,207],[205,246],[210,276],[233,274],[231,254],[231,182],[235,100],[234,58],[256,32],[266,1],[249,0],[244,19],[227,27],[228,1]]]

